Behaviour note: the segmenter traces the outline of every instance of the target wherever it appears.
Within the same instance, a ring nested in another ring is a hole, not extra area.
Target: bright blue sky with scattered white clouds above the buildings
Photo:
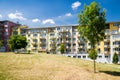
[[[84,4],[93,1],[106,9],[107,22],[120,21],[120,0],[0,0],[0,20],[29,27],[74,25]]]

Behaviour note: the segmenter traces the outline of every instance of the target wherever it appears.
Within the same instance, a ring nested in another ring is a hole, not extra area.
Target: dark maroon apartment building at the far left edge
[[[0,21],[0,40],[3,41],[3,46],[0,48],[0,51],[9,51],[8,40],[12,35],[13,27],[17,27],[18,24],[5,20]]]

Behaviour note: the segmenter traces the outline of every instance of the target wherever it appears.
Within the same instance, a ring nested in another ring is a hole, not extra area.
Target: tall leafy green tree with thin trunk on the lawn
[[[91,59],[93,59],[91,54],[94,56],[94,72],[96,72],[95,59],[97,56],[93,53],[96,53],[94,52],[95,45],[105,37],[105,14],[105,10],[101,10],[101,7],[97,2],[92,2],[88,6],[85,5],[84,10],[78,15],[78,31],[80,32],[81,37],[91,44],[92,51],[90,51],[89,55]]]

